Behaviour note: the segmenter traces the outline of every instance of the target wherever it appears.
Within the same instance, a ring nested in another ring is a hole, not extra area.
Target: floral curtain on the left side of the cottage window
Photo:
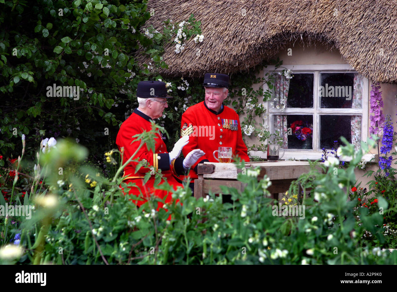
[[[287,106],[287,97],[289,89],[289,75],[279,72],[275,75],[274,81],[274,97],[270,101],[272,108],[285,109]],[[283,138],[282,148],[288,148],[288,135],[287,135],[287,115],[275,115],[273,123],[274,131],[279,131],[280,137]]]

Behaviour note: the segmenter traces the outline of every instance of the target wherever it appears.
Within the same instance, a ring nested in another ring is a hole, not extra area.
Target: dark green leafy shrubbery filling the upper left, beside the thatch
[[[162,32],[144,30],[149,18],[145,1],[0,4],[0,92],[7,97],[0,109],[1,155],[19,153],[15,145],[22,134],[37,145],[44,137],[70,137],[89,147],[91,155],[114,148],[119,125],[137,105],[137,84],[161,78],[156,72],[167,67],[164,45],[179,28],[164,19]],[[193,14],[183,31],[186,40],[201,33]],[[152,60],[142,68],[137,64],[140,46]],[[65,95],[52,89],[54,84],[79,89]],[[175,104],[180,103],[177,86],[170,87]],[[180,121],[182,110],[167,116]],[[33,155],[34,149],[26,151]]]

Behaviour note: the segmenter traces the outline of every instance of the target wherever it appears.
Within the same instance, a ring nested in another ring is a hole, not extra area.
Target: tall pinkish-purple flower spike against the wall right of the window
[[[385,116],[383,111],[380,109],[384,106],[382,99],[382,91],[379,91],[380,86],[379,82],[371,84],[371,98],[370,98],[370,112],[373,112],[374,115],[370,116],[370,134],[378,135],[380,134],[380,130],[383,127]]]

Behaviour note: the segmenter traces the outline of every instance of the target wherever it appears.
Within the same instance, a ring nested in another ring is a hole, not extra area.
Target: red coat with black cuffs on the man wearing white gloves
[[[121,124],[120,130],[116,137],[116,144],[119,151],[123,151],[123,164],[135,153],[138,149],[140,141],[135,141],[136,139],[132,136],[140,134],[143,131],[150,131],[152,129],[151,118],[148,117],[143,112],[135,109],[134,112]],[[123,149],[123,150],[122,150]],[[155,139],[155,151],[148,150],[146,144],[144,144],[138,151],[138,153],[133,157],[133,159],[139,159],[140,162],[146,163],[146,167],[142,166],[137,172],[135,172],[135,167],[138,162],[130,162],[124,168],[124,182],[135,183],[137,186],[129,186],[129,194],[139,195],[141,192],[143,194],[143,201],[135,201],[134,203],[138,206],[143,205],[146,202],[147,197],[154,194],[157,197],[163,199],[166,197],[165,202],[168,203],[172,200],[171,194],[168,191],[158,190],[154,186],[154,174],[149,178],[146,184],[143,184],[143,178],[147,172],[150,172],[150,168],[156,170],[161,169],[162,174],[167,179],[168,183],[173,186],[176,190],[177,186],[182,186],[179,182],[175,180],[172,173],[175,174],[185,174],[183,169],[183,159],[177,158],[170,165],[170,155],[168,154],[166,144],[164,143],[160,133],[157,133]],[[164,179],[161,180],[160,184],[164,183]],[[158,203],[157,211],[163,206],[163,203]]]

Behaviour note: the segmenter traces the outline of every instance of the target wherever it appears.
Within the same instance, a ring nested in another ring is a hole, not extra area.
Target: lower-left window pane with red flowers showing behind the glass
[[[312,115],[287,115],[287,125],[288,149],[313,149]]]

